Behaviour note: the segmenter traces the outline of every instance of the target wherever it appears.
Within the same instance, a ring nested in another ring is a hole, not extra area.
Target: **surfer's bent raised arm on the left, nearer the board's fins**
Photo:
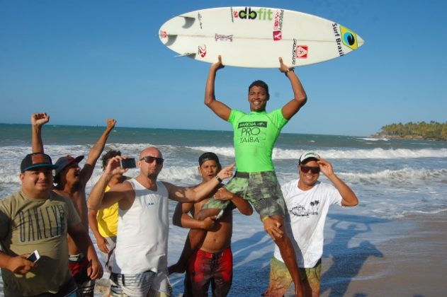
[[[217,101],[214,95],[216,73],[217,70],[222,68],[224,68],[224,65],[222,64],[222,58],[219,56],[219,61],[211,65],[210,72],[208,73],[205,86],[205,105],[210,107],[222,120],[227,121],[230,117],[231,109],[224,103]]]

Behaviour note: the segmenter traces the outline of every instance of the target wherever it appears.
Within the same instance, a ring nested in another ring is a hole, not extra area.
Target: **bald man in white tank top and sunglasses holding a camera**
[[[198,202],[232,176],[233,165],[227,166],[198,187],[178,187],[157,180],[164,159],[158,148],[148,147],[137,162],[140,174],[114,185],[105,192],[113,175],[125,173],[120,160],[110,159],[103,175],[94,185],[87,205],[104,209],[118,202],[118,234],[112,277],[120,291],[112,296],[171,296],[167,274],[167,243],[169,232],[168,199]]]

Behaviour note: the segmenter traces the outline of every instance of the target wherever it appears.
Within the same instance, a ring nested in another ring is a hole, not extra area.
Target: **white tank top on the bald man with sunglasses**
[[[128,180],[135,201],[128,210],[118,208],[118,235],[112,271],[139,274],[167,269],[168,191],[157,182],[157,192],[147,190],[134,178]]]

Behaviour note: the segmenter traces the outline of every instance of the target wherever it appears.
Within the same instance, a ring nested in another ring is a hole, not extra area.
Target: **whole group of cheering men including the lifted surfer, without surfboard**
[[[42,137],[50,117],[33,114],[32,149],[21,162],[21,190],[0,200],[5,296],[94,296],[103,265],[89,228],[106,259],[111,296],[171,296],[169,274],[183,272],[183,296],[208,296],[210,286],[213,296],[227,296],[233,276],[233,209],[247,216],[255,209],[276,244],[264,296],[283,296],[292,282],[295,296],[319,296],[329,206],[355,206],[358,199],[332,164],[312,151],[298,158],[298,178],[279,185],[273,146],[284,125],[307,102],[295,69],[281,58],[279,65],[290,81],[293,99],[266,112],[268,85],[254,81],[248,90],[249,113],[215,98],[216,74],[224,67],[221,57],[210,67],[205,105],[232,124],[237,170],[233,174],[233,164],[222,168],[215,153],[205,152],[198,158],[202,181],[191,187],[158,180],[164,158],[150,146],[140,152],[135,177],[125,175],[128,168],[122,164],[127,156],[107,151],[103,173],[87,197],[86,184],[116,121],[107,120],[81,168],[84,156],[67,155],[52,163]],[[244,136],[251,141],[241,141]],[[321,172],[330,182],[318,180]],[[222,180],[230,177],[224,185]],[[179,202],[174,225],[191,229],[171,267],[166,257],[168,199]]]

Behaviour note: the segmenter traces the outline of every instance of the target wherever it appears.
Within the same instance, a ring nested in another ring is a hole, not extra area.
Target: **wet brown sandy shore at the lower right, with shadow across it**
[[[447,211],[417,214],[388,221],[380,228],[387,233],[386,238],[392,239],[377,244],[373,244],[377,231],[361,233],[352,229],[336,233],[332,242],[325,245],[322,296],[445,296],[446,214]],[[261,232],[257,235],[259,239],[264,238]],[[261,242],[256,245],[259,246]],[[243,250],[237,243],[234,244],[235,254],[244,254]],[[254,265],[255,272],[244,269],[242,273],[242,267],[236,264],[229,296],[260,296],[268,284],[270,257],[271,252],[267,252],[261,260],[254,261],[256,264],[251,262],[244,265]],[[247,277],[253,280],[247,274],[256,276],[259,281],[247,282]],[[174,279],[176,277],[182,278],[174,274]],[[174,286],[177,288],[174,296],[181,296],[179,285]],[[244,293],[241,295],[241,292]],[[290,288],[285,296],[293,296],[291,292]],[[96,296],[101,294],[97,292]]]

